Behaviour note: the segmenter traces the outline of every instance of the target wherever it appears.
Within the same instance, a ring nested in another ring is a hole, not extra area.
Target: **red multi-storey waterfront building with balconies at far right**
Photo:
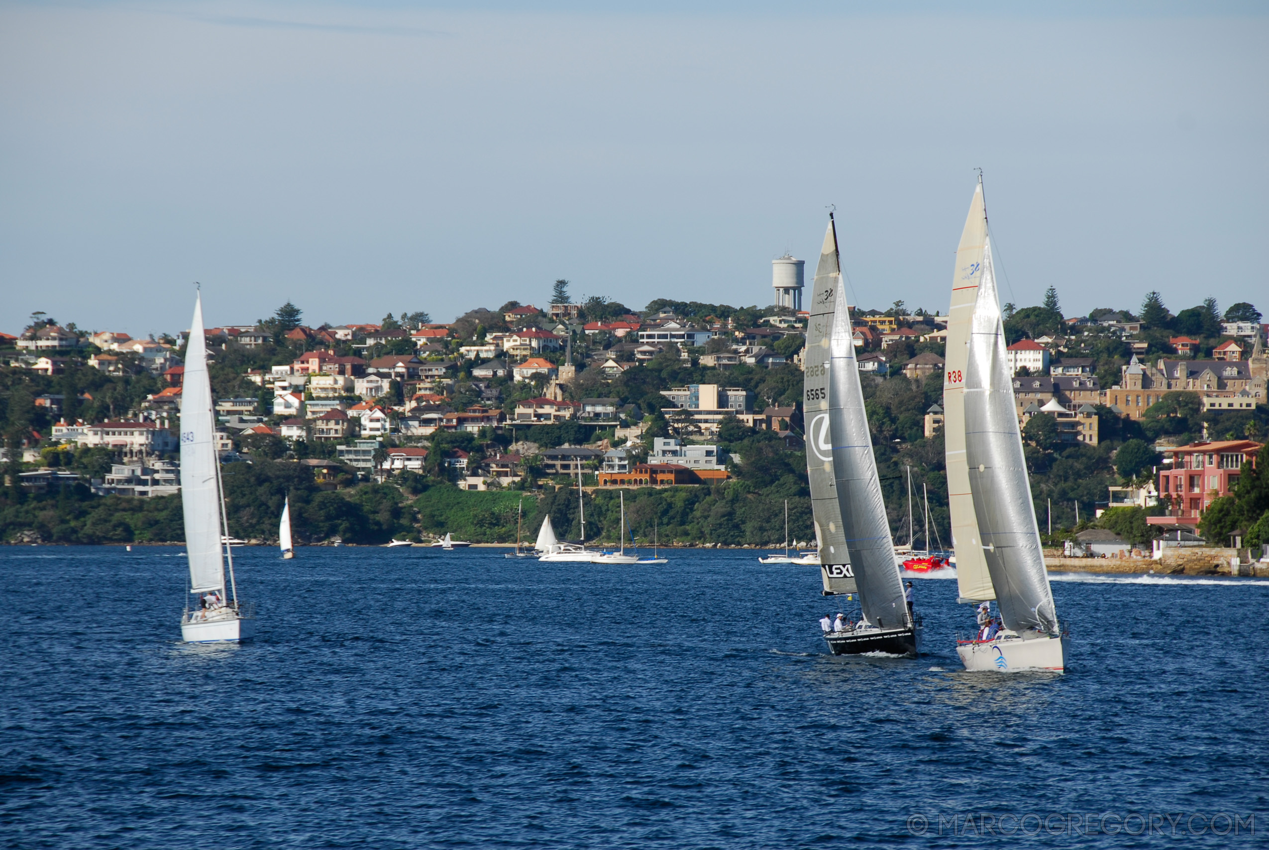
[[[1164,449],[1173,462],[1159,470],[1159,497],[1170,498],[1171,507],[1167,516],[1146,517],[1146,522],[1193,529],[1214,499],[1233,493],[1242,464],[1255,466],[1260,446],[1251,440],[1226,440]]]

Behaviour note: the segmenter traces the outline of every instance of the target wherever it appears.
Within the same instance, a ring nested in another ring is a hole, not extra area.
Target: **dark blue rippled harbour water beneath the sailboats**
[[[816,569],[745,551],[590,567],[244,548],[258,639],[184,645],[180,551],[0,548],[0,845],[1269,835],[1265,581],[1060,577],[1068,672],[1001,675],[961,670],[954,582],[916,582],[928,654],[832,657]]]

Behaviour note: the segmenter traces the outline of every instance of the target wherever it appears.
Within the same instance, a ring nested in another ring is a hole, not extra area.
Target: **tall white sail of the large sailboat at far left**
[[[221,488],[216,455],[216,419],[212,384],[207,374],[203,335],[203,299],[194,301],[194,320],[185,349],[185,375],[180,391],[180,499],[185,517],[185,551],[194,593],[225,592],[225,555],[221,548]]]

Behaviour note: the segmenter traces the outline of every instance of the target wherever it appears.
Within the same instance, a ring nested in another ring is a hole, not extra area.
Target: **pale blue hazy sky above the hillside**
[[[937,310],[975,168],[1008,300],[1269,313],[1265,6],[1016,8],[0,4],[0,329],[766,304],[829,205]]]

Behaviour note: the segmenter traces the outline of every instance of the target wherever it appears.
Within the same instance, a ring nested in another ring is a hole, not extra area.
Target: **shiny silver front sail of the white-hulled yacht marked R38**
[[[1044,569],[1018,429],[990,239],[983,245],[981,282],[970,328],[964,435],[981,551],[996,591],[1001,621],[1014,631],[1039,629],[1056,634],[1057,611]],[[962,549],[957,548],[958,567]]]

